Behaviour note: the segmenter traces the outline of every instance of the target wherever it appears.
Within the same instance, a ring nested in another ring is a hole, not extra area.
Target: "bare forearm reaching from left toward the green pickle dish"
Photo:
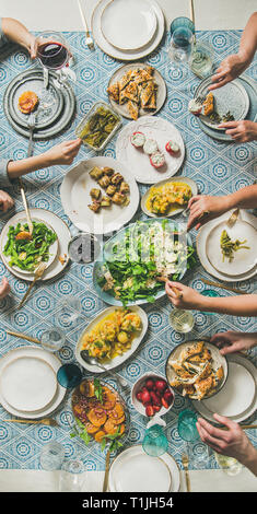
[[[71,164],[79,152],[81,143],[81,139],[63,141],[39,155],[23,159],[21,161],[10,161],[7,166],[8,177],[12,180],[44,167],[56,164]]]

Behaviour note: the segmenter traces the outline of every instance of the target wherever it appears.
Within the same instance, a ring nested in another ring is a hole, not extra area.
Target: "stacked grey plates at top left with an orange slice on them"
[[[38,107],[34,110],[37,113],[33,132],[35,140],[56,136],[71,121],[75,107],[74,93],[68,83],[61,89],[57,87],[56,80],[56,73],[49,72],[47,93],[43,93],[43,70],[32,68],[16,75],[8,85],[3,96],[4,114],[14,130],[25,138],[30,137],[30,115],[19,109],[19,98],[25,91],[33,91],[39,98]]]

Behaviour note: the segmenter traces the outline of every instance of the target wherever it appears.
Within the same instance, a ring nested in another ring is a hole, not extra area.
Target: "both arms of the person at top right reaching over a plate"
[[[212,84],[209,86],[210,91],[222,87],[229,82],[240,77],[245,71],[255,57],[257,48],[257,12],[254,12],[249,17],[240,43],[237,54],[226,57],[212,77]],[[240,121],[222,122],[220,128],[226,129],[225,133],[230,135],[232,139],[238,143],[257,140],[257,122],[248,119]]]

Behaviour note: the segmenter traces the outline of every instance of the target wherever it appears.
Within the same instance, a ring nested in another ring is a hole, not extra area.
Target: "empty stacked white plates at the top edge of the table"
[[[105,54],[131,61],[148,56],[160,44],[164,16],[154,0],[101,0],[91,26]]]

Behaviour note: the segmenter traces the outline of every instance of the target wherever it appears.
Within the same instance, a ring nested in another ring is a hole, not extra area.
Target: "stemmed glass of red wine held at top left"
[[[69,67],[72,57],[65,37],[57,32],[43,32],[36,38],[37,58],[42,66],[49,71],[55,71],[59,77],[56,85],[62,86],[67,74],[62,69]]]

